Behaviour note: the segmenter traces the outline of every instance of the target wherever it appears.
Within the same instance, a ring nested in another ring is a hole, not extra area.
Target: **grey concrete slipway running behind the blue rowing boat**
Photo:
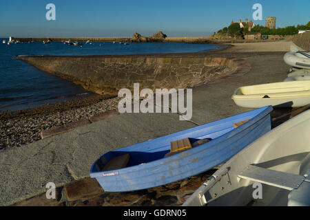
[[[112,149],[251,110],[237,107],[231,94],[240,86],[284,80],[289,67],[283,54],[255,53],[246,57],[251,64],[248,73],[237,72],[219,82],[194,88],[192,122],[178,120],[177,113],[125,113],[1,151],[0,205],[39,195],[46,191],[48,182],[63,186],[87,177],[94,160]]]

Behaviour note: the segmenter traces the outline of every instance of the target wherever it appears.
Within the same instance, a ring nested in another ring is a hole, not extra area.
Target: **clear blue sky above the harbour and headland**
[[[56,21],[45,6],[56,5]],[[277,17],[277,28],[310,21],[309,0],[10,0],[1,2],[0,37],[7,36],[209,36],[231,19],[251,19],[254,3],[262,16]],[[256,21],[265,25],[265,21]]]

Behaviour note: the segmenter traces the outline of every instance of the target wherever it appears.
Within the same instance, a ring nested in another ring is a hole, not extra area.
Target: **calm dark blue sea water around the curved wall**
[[[57,76],[19,61],[19,55],[120,55],[157,54],[180,52],[203,52],[214,50],[220,45],[200,45],[185,43],[118,43],[95,42],[83,47],[64,45],[61,42],[43,44],[41,42],[7,45],[0,39],[0,111],[15,111],[62,102],[87,94],[82,87]]]

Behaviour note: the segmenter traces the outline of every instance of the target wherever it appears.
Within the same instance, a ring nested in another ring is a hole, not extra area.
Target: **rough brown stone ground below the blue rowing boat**
[[[14,206],[180,206],[214,171],[133,192],[104,192],[96,179],[87,177],[57,188],[56,199],[43,193]]]

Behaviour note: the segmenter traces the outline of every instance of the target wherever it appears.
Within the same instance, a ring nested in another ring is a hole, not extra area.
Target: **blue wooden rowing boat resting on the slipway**
[[[272,107],[263,107],[229,118],[196,126],[154,140],[119,148],[102,155],[92,164],[90,177],[107,192],[124,192],[162,186],[192,177],[227,162],[245,146],[271,129]],[[246,121],[234,127],[233,124]],[[187,151],[164,157],[170,142],[189,137],[192,141],[211,141]],[[130,155],[125,168],[101,171],[111,159]]]

